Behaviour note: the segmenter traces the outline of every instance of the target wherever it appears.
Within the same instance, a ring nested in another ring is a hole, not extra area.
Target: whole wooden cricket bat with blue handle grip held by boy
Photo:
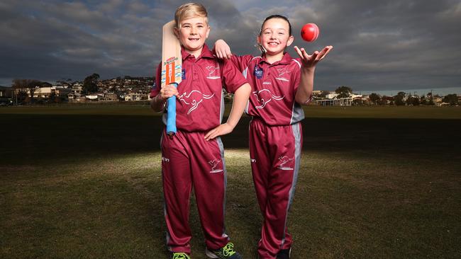
[[[174,35],[174,21],[163,25],[162,35],[162,80],[161,86],[175,84],[182,80],[181,44]],[[176,96],[167,100],[167,134],[176,134]]]

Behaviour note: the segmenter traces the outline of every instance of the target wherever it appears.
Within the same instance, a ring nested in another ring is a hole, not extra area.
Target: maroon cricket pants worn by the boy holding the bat
[[[167,246],[172,252],[190,253],[189,198],[192,187],[196,197],[206,246],[226,246],[224,226],[226,165],[218,137],[209,142],[204,132],[177,132],[161,139],[162,180],[165,196]]]

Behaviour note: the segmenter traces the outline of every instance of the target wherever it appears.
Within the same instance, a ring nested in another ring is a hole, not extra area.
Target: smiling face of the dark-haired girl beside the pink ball
[[[265,48],[266,56],[283,56],[294,38],[289,35],[289,23],[282,18],[271,18],[262,25],[257,42]]]

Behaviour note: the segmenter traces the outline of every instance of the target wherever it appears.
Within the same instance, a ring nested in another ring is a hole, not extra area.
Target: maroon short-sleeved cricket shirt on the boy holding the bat
[[[213,129],[221,124],[223,117],[223,88],[228,93],[235,93],[247,81],[232,63],[213,57],[206,45],[197,58],[184,48],[181,54],[182,81],[178,85],[179,98],[176,101],[177,129],[187,132]],[[159,65],[151,98],[160,93],[160,72]],[[163,122],[166,124],[166,115]]]

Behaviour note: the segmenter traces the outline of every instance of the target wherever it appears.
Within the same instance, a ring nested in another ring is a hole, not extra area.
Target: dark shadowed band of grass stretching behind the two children
[[[160,117],[139,115],[0,115],[6,164],[160,151]],[[226,120],[226,118],[224,119]],[[226,148],[248,148],[243,117],[223,137]],[[461,120],[307,118],[305,151],[351,151],[458,157]]]

